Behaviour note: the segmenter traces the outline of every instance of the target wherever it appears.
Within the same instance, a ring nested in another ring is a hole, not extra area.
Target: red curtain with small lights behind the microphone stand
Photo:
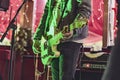
[[[3,35],[3,33],[6,31],[10,21],[15,16],[22,2],[23,0],[10,0],[9,9],[6,12],[0,11],[0,38]],[[19,15],[20,14],[18,14],[16,17],[17,19],[16,21],[18,23],[19,23]],[[6,38],[11,39],[11,31],[8,31]]]

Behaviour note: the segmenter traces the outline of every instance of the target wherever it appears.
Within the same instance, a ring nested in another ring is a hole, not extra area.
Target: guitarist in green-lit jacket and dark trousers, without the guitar
[[[44,14],[34,34],[33,51],[40,53],[41,38],[46,37],[51,25],[63,32],[63,38],[57,45],[60,56],[53,58],[51,65],[52,80],[73,80],[76,69],[81,40],[87,37],[87,22],[91,15],[91,0],[47,0]],[[69,30],[70,26],[77,26],[77,20],[86,20],[82,28]],[[56,31],[57,32],[57,31]],[[42,54],[42,53],[41,53]]]

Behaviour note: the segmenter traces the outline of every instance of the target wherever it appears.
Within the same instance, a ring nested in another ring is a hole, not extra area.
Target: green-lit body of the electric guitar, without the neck
[[[57,51],[57,44],[59,44],[59,40],[63,38],[63,34],[59,32],[58,34],[53,34],[54,29],[51,27],[47,36],[51,36],[50,39],[45,39],[42,36],[41,39],[41,60],[44,65],[49,65],[53,58],[57,58],[60,55],[60,52]],[[51,32],[52,31],[52,32]]]

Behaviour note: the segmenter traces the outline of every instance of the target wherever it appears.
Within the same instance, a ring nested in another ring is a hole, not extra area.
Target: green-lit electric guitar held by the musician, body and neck
[[[73,24],[70,25],[70,30],[81,28],[86,23],[87,19],[82,19],[81,21],[76,20]],[[55,30],[54,27],[50,27],[49,31],[47,32],[47,39],[46,37],[42,36],[40,48],[41,61],[44,65],[49,65],[53,58],[60,56],[60,52],[57,51],[57,45],[63,38],[63,32],[65,29],[66,27],[64,27],[62,31],[59,31]]]

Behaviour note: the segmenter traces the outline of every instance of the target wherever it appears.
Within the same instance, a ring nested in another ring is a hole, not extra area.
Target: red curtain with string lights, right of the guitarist
[[[110,0],[108,0],[110,1]],[[95,43],[102,41],[103,36],[103,14],[104,14],[104,0],[92,0],[92,14],[89,20],[89,36],[85,42]],[[116,5],[116,4],[115,4]],[[114,26],[116,26],[116,7],[113,7],[114,11]],[[115,28],[116,31],[116,28]]]

